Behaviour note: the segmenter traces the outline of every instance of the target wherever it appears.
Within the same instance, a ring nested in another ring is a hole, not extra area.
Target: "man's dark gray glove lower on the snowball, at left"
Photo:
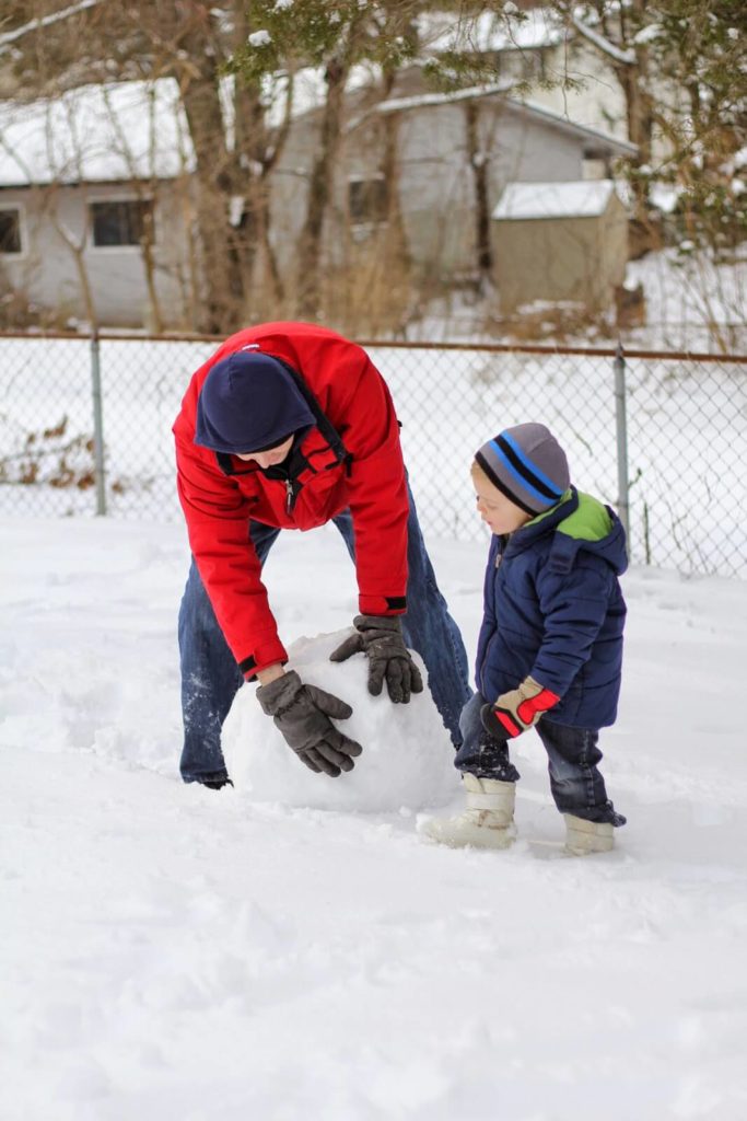
[[[317,775],[324,771],[332,778],[353,770],[351,757],[360,756],[363,748],[338,732],[329,720],[352,716],[349,704],[316,685],[305,685],[295,670],[260,685],[256,700],[262,711],[273,717],[288,747],[310,770]]]

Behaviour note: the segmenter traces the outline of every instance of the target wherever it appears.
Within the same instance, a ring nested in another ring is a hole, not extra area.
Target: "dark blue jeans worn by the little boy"
[[[464,743],[454,765],[477,778],[515,782],[520,775],[511,762],[508,742],[494,740],[480,722],[479,711],[485,703],[485,697],[475,693],[465,705],[460,720]],[[624,825],[625,818],[607,798],[605,780],[597,769],[601,760],[597,730],[553,724],[543,716],[535,731],[548,753],[550,790],[560,813]]]

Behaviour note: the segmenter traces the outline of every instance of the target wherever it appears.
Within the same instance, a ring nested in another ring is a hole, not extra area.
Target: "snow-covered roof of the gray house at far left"
[[[0,185],[171,178],[194,169],[172,78],[0,102]]]

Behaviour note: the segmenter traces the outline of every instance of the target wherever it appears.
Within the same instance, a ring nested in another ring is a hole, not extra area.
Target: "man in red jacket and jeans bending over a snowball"
[[[368,659],[368,689],[422,689],[460,744],[467,657],[436,584],[389,389],[365,351],[325,327],[269,323],[232,335],[193,376],[174,425],[193,565],[179,613],[186,782],[230,781],[221,730],[239,687],[314,771],[353,769],[361,745],[333,723],[344,701],[283,667],[262,565],[281,529],[334,521],[355,563],[360,614],[332,655]]]

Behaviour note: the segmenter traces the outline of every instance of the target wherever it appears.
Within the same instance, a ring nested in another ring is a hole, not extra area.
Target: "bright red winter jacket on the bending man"
[[[255,463],[194,443],[197,401],[209,370],[248,343],[301,374],[348,453],[339,463],[317,426],[301,443],[310,466],[288,511],[282,480]],[[400,434],[386,385],[360,346],[307,323],[265,323],[227,339],[197,370],[174,425],[178,491],[189,544],[218,624],[244,675],[288,655],[278,637],[249,521],[282,529],[323,526],[347,507],[355,531],[362,613],[405,610],[408,492]],[[235,471],[228,474],[226,470]]]

